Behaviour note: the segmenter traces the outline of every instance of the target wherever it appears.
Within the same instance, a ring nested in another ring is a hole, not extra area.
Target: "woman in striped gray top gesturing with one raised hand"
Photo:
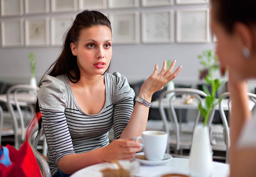
[[[133,107],[135,94],[126,78],[108,73],[111,39],[106,16],[96,11],[79,13],[66,34],[59,58],[40,83],[36,110],[42,113],[53,176],[68,176],[89,165],[132,158],[141,147],[129,139],[145,131],[151,96],[180,72],[181,66],[172,73],[176,61],[168,71],[164,61],[160,73],[156,64],[138,95],[146,101]],[[112,127],[116,140],[109,143]]]

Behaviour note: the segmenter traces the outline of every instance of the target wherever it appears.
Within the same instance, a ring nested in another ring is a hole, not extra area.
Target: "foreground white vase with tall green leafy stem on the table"
[[[190,149],[189,169],[191,176],[207,177],[212,173],[212,153],[207,123],[211,112],[218,104],[215,96],[221,83],[219,79],[213,78],[213,72],[219,69],[217,56],[212,54],[211,50],[206,50],[203,52],[203,55],[198,56],[198,59],[204,66],[204,69],[200,72],[200,77],[204,78],[211,91],[209,91],[206,85],[203,85],[203,91],[207,96],[205,97],[205,105],[199,102],[198,109],[204,118],[204,123],[195,127]]]

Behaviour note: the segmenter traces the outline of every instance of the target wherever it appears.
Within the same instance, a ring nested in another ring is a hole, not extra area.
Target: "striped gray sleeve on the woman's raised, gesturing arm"
[[[135,93],[124,76],[120,73],[113,73],[113,75],[116,77],[116,87],[113,98],[113,127],[114,139],[118,139],[132,115]]]

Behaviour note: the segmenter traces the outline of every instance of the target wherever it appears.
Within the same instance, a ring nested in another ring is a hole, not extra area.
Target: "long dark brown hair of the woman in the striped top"
[[[85,10],[76,15],[76,19],[73,22],[73,25],[69,28],[67,33],[65,34],[65,40],[63,43],[62,51],[58,59],[52,63],[49,69],[44,73],[43,77],[40,80],[39,86],[42,84],[42,80],[45,75],[50,75],[56,77],[61,74],[67,75],[68,79],[73,82],[77,83],[80,80],[80,70],[77,65],[76,56],[72,54],[70,44],[77,43],[80,35],[80,31],[84,28],[92,27],[95,25],[103,25],[109,27],[112,32],[111,24],[108,18],[98,12],[98,11],[88,11]],[[109,64],[110,66],[110,64]],[[108,73],[109,66],[104,74]],[[102,74],[102,75],[104,75]],[[38,98],[36,100],[35,111],[39,112],[39,104]],[[41,131],[42,127],[42,119],[38,122],[38,135]]]

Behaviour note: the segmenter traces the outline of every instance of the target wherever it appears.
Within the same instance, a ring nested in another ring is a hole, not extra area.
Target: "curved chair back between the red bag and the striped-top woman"
[[[41,136],[43,136],[43,131],[40,132],[39,135],[35,136],[38,132],[38,126],[34,128],[33,132],[31,133],[30,137],[28,137],[28,142],[30,144],[31,149],[36,157],[37,162],[39,163],[41,173],[44,177],[52,177],[50,167],[47,163],[47,160],[44,156],[36,150],[37,143]],[[35,138],[33,138],[35,137]]]

